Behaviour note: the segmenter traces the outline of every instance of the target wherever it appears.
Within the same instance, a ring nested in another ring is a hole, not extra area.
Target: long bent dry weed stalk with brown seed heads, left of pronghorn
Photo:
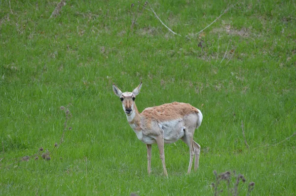
[[[49,150],[47,150],[47,149],[45,150],[45,152],[43,152],[44,149],[42,147],[40,147],[38,149],[38,152],[35,153],[34,155],[31,155],[31,156],[23,156],[23,157],[14,158],[14,159],[9,159],[9,160],[7,160],[6,162],[4,162],[2,164],[0,163],[0,169],[7,168],[9,166],[12,166],[12,165],[14,165],[16,163],[19,163],[19,162],[22,162],[22,161],[28,162],[33,157],[35,157],[35,160],[38,160],[39,157],[43,158],[46,161],[51,160],[50,155],[54,152],[54,150],[56,148],[59,148],[59,146],[61,145],[61,143],[64,141],[65,132],[67,130],[72,130],[72,127],[70,127],[70,128],[67,129],[67,123],[69,122],[70,118],[72,117],[72,114],[71,114],[71,112],[69,110],[69,107],[72,106],[72,99],[73,98],[71,98],[71,101],[67,105],[66,108],[64,106],[61,106],[60,107],[61,110],[65,110],[65,113],[66,113],[66,121],[64,123],[64,130],[63,130],[63,134],[62,134],[61,139],[60,139],[60,143],[58,144],[57,142],[55,142],[54,147],[53,147],[53,149],[52,149],[51,152]],[[3,153],[4,153],[4,145],[3,145],[3,142],[2,142],[2,147],[3,147]],[[2,161],[3,159],[4,158],[1,158],[0,161]],[[13,162],[13,163],[9,163],[9,162]],[[6,164],[6,165],[2,166],[5,163],[9,163],[9,164]]]

